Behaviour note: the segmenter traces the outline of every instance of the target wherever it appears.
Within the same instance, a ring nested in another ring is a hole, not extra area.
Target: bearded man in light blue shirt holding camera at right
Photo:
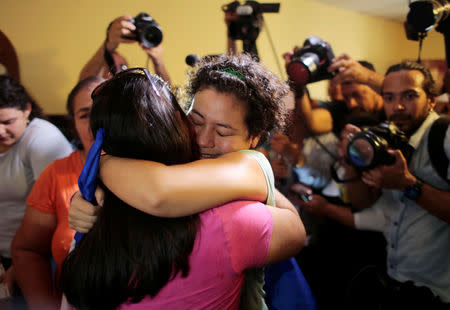
[[[369,305],[381,309],[448,309],[450,130],[443,127],[442,141],[436,140],[435,132],[430,134],[439,118],[433,111],[437,92],[423,65],[402,62],[391,66],[382,94],[387,119],[405,132],[413,152],[407,160],[409,156],[400,150],[389,149],[393,164],[363,171],[360,180],[348,183],[352,205],[366,208],[354,213],[355,227],[383,232],[388,245],[387,272],[370,268],[361,272],[350,288],[350,296],[358,309]],[[341,152],[359,131],[346,126]],[[447,158],[442,170],[432,164],[438,151]],[[354,168],[347,169],[356,175]]]

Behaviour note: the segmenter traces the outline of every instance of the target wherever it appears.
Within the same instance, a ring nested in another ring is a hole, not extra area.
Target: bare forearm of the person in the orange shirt
[[[29,309],[58,309],[59,298],[53,293],[49,257],[18,249],[13,259],[17,282]]]

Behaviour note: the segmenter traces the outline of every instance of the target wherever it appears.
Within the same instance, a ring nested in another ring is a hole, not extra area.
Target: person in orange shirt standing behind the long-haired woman
[[[13,240],[17,282],[30,309],[59,309],[61,264],[75,233],[68,223],[69,201],[78,191],[78,177],[94,140],[89,125],[91,92],[103,81],[100,77],[87,78],[69,94],[67,113],[81,148],[54,161],[39,176]],[[52,272],[51,259],[56,263],[56,273]]]

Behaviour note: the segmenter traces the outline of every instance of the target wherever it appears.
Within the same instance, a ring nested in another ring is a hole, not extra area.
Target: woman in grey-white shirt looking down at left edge
[[[14,294],[15,267],[11,242],[25,212],[25,199],[48,164],[72,152],[72,146],[51,123],[26,89],[0,76],[0,255],[6,273],[0,277]]]

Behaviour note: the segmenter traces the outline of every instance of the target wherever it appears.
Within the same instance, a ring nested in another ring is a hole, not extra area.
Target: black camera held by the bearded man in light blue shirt
[[[364,128],[355,134],[347,147],[347,160],[361,171],[378,165],[392,165],[395,158],[387,152],[388,148],[399,149],[407,159],[411,155],[408,138],[392,122]]]

